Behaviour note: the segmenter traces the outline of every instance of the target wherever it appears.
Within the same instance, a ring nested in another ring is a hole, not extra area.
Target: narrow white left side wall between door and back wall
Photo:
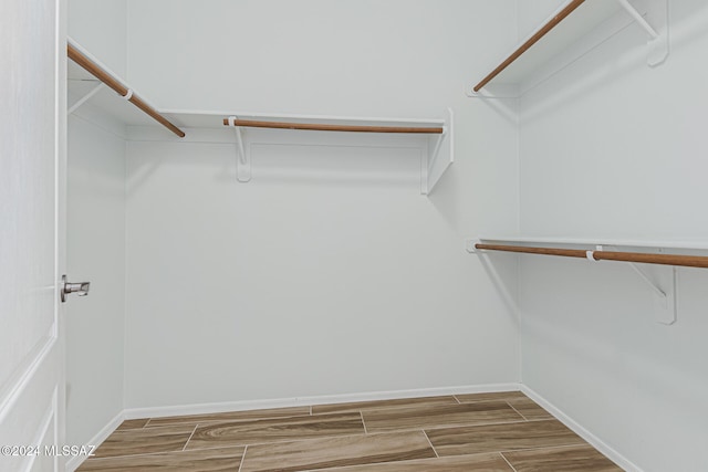
[[[125,0],[71,0],[69,34],[125,74]],[[123,411],[126,129],[88,102],[67,134],[67,273],[91,293],[66,307],[66,434],[85,444]]]

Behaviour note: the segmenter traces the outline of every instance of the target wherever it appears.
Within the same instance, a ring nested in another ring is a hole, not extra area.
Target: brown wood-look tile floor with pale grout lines
[[[79,471],[622,471],[518,391],[127,420]]]

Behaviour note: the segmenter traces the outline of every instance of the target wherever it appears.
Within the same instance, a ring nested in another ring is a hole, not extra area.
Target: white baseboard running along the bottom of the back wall
[[[392,400],[397,398],[436,397],[444,395],[489,394],[521,390],[520,384],[487,384],[461,387],[424,388],[414,390],[374,391],[365,394],[325,395],[315,397],[278,398],[271,400],[225,401],[218,403],[176,405],[171,407],[128,408],[125,419],[160,418],[184,415],[208,415],[226,411],[248,411],[269,408],[302,407],[311,405],[346,403],[353,401]]]

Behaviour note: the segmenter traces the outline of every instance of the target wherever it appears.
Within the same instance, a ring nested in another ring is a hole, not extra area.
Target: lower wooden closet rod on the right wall
[[[528,254],[560,255],[564,258],[594,259],[595,261],[639,262],[644,264],[677,265],[684,268],[708,269],[708,256],[650,254],[645,252],[583,251],[580,249],[528,248],[521,245],[475,244],[483,251],[522,252]]]

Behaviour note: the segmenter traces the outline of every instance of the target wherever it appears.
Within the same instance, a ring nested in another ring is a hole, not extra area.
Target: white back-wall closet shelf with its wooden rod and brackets
[[[397,135],[397,139],[408,145],[424,146],[420,166],[420,192],[428,195],[447,168],[455,160],[454,114],[447,109],[444,118],[387,118],[352,117],[331,115],[264,114],[233,111],[186,111],[164,112],[175,123],[187,128],[212,128],[235,132],[237,141],[237,172],[241,182],[251,179],[250,146],[244,145],[242,128],[272,128],[272,139],[287,138],[283,133],[354,133],[357,135]],[[366,139],[362,137],[362,139]]]

